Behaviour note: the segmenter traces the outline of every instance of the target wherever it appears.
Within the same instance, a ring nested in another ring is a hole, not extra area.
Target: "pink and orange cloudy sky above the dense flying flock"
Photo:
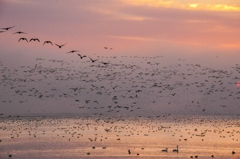
[[[80,50],[93,59],[164,56],[169,65],[181,58],[229,71],[240,59],[239,15],[238,0],[0,0],[0,28],[14,26],[1,29],[0,61],[9,68],[36,58],[69,62],[79,57],[66,53]]]

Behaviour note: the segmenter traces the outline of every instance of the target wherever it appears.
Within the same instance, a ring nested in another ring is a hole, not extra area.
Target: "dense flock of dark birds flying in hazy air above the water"
[[[1,28],[2,33],[14,27]],[[43,45],[48,43],[55,44]],[[163,56],[78,56],[71,62],[36,57],[34,65],[20,68],[0,62],[1,104],[19,107],[23,114],[233,114],[240,108],[239,64],[219,70],[185,59],[169,64]]]

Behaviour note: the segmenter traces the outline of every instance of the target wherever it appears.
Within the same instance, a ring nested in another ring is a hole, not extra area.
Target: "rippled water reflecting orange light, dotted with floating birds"
[[[240,158],[239,119],[7,117],[0,119],[0,158]]]

